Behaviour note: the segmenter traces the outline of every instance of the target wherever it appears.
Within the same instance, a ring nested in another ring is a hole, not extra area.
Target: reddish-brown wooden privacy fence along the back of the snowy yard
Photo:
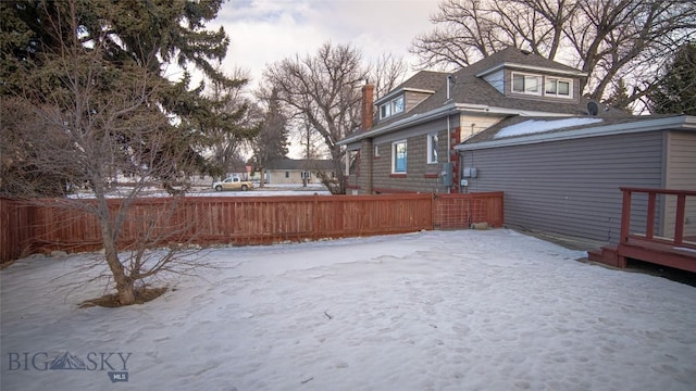
[[[95,200],[0,199],[0,262],[51,250],[101,249],[98,219],[76,206]],[[109,200],[112,215],[122,200]],[[78,203],[76,205],[76,203]],[[504,224],[502,192],[291,197],[146,198],[127,209],[119,245],[262,244]]]

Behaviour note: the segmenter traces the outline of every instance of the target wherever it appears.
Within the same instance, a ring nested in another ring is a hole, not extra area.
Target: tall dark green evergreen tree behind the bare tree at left
[[[179,159],[177,169],[159,173],[163,186],[172,190],[194,173],[210,171],[201,154],[210,146],[207,126],[211,118],[221,121],[219,103],[203,94],[204,84],[190,86],[192,70],[225,87],[247,81],[229,79],[213,65],[225,56],[229,40],[222,28],[210,31],[204,25],[216,16],[222,1],[0,2],[0,97],[18,96],[35,105],[59,105],[64,111],[57,96],[69,93],[71,81],[79,83],[66,76],[67,68],[76,65],[66,62],[67,51],[84,51],[82,60],[71,56],[78,63],[102,64],[101,102],[119,99],[115,87],[133,84],[133,75],[142,76],[140,80],[148,80],[141,93],[147,96],[150,114],[169,118],[169,125],[160,127],[167,142],[159,147],[157,161]],[[183,70],[175,83],[166,78],[167,64]],[[97,91],[90,93],[95,102]]]

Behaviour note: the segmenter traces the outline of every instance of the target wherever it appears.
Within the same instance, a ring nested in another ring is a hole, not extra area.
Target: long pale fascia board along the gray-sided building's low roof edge
[[[455,146],[457,151],[474,151],[488,148],[524,146],[539,142],[572,140],[587,137],[625,135],[654,130],[688,129],[696,130],[696,116],[675,116],[657,119],[644,119],[633,123],[585,127],[567,131],[548,131],[545,134],[512,137],[496,141],[484,141],[472,144]]]

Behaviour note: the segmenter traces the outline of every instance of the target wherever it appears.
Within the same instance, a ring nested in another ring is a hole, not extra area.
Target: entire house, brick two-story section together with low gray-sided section
[[[365,86],[362,128],[341,141],[355,160],[348,189],[504,191],[507,226],[617,242],[620,187],[696,189],[696,117],[598,104],[581,96],[586,76],[508,48],[419,73],[375,102]],[[674,203],[660,201],[657,235],[671,235]],[[632,222],[646,214],[639,200]],[[684,232],[696,235],[693,199]]]

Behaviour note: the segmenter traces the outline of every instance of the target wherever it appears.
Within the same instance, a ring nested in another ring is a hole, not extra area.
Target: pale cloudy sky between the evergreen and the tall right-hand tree
[[[365,60],[391,52],[412,62],[411,40],[432,29],[438,0],[229,0],[217,14],[229,36],[223,65],[250,72],[252,86],[268,64],[319,47],[351,43]]]

